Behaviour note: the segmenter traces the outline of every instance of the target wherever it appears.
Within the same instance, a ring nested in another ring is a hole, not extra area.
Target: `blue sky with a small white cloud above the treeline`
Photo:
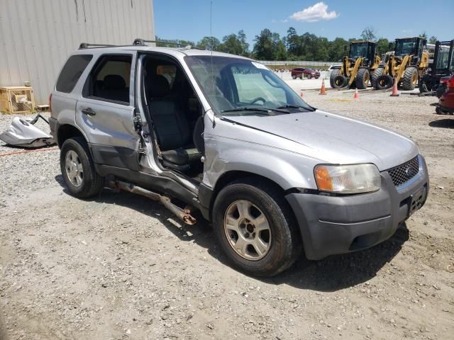
[[[153,4],[160,38],[197,41],[209,35],[209,0],[153,0]],[[427,18],[431,13],[436,17]],[[388,39],[425,30],[428,36],[450,40],[454,38],[454,0],[323,0],[322,4],[318,0],[213,0],[213,35],[220,40],[243,29],[252,47],[263,28],[285,35],[290,26],[298,34],[309,32],[329,40],[358,38],[366,26]]]

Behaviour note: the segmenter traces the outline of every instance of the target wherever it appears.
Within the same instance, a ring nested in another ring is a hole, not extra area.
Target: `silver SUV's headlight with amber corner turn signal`
[[[374,164],[317,165],[319,190],[333,193],[369,193],[380,189],[380,172]]]

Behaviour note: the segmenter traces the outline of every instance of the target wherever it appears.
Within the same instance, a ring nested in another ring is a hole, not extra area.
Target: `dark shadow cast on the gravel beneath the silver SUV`
[[[63,191],[67,189],[62,176],[55,176]],[[209,222],[201,215],[196,215],[199,221],[194,226],[185,225],[177,217],[172,215],[159,203],[133,193],[114,191],[105,188],[97,198],[93,199],[98,203],[115,204],[131,208],[146,216],[155,217],[172,234],[184,242],[193,241],[199,246],[208,250],[209,254],[223,263],[231,266],[217,246],[214,234]],[[320,261],[308,261],[304,255],[295,265],[284,273],[274,278],[256,278],[264,283],[272,285],[287,284],[295,288],[331,292],[343,288],[352,287],[364,283],[376,276],[377,271],[394,256],[396,256],[402,245],[409,239],[409,232],[406,229],[398,229],[397,232],[385,242],[377,244],[370,249],[357,251],[355,253],[329,256]],[[0,338],[1,340],[1,338]]]

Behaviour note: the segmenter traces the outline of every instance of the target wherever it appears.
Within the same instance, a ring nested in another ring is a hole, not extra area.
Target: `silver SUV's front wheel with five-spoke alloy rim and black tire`
[[[240,214],[239,207],[243,207],[244,214]],[[229,216],[230,226],[225,223]],[[268,229],[259,234],[254,221],[262,216]],[[228,260],[252,276],[275,276],[292,266],[301,253],[301,237],[287,201],[275,186],[257,179],[235,181],[218,193],[213,208],[213,226],[218,244]],[[243,251],[235,249],[238,240],[243,240]],[[262,241],[262,254],[253,245],[257,240]]]

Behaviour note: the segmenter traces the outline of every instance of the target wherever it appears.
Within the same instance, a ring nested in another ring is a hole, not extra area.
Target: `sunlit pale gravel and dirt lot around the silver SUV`
[[[454,339],[453,116],[434,98],[304,96],[419,145],[431,191],[409,232],[258,280],[228,266],[206,222],[107,189],[72,198],[57,150],[0,157],[0,339]]]

